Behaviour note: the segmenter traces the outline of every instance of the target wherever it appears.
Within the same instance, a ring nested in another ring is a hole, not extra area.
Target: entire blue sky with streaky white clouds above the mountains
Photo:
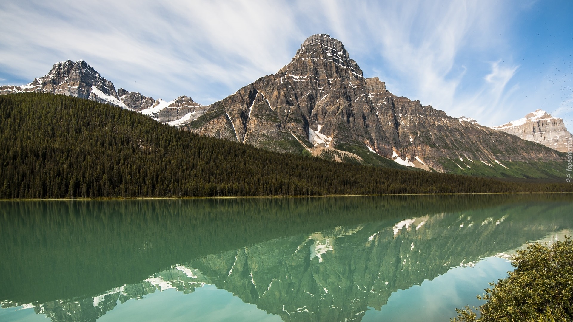
[[[6,1],[0,84],[83,59],[116,88],[210,104],[328,33],[395,95],[484,125],[541,108],[571,130],[571,17],[571,0]]]

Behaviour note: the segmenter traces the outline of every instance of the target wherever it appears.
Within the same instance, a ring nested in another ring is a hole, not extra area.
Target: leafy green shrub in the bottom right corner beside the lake
[[[573,243],[570,237],[547,244],[527,245],[513,256],[513,272],[497,281],[486,294],[487,302],[477,308],[456,309],[451,321],[572,321]]]

